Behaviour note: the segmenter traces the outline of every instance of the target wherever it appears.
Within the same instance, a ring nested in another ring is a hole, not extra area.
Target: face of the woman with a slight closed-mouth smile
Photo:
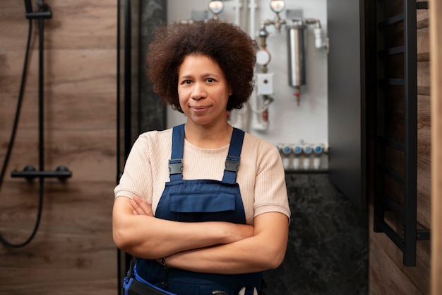
[[[184,58],[178,72],[178,96],[188,122],[205,126],[227,123],[231,94],[224,72],[213,59],[204,55]]]

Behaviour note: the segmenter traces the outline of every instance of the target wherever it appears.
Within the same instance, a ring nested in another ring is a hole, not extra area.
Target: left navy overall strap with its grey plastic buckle
[[[172,155],[169,160],[170,181],[183,179],[184,124],[172,129]]]

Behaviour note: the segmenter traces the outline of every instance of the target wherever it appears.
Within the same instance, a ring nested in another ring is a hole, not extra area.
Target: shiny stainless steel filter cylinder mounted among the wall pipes
[[[306,25],[286,26],[289,86],[300,87],[306,84],[306,61],[304,54]]]

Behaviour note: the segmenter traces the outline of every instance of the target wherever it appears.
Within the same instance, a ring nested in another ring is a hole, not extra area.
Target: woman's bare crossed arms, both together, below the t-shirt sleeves
[[[112,212],[114,242],[139,258],[193,272],[239,274],[278,267],[285,256],[288,221],[268,212],[253,226],[221,221],[179,222],[157,219],[140,197],[117,197]]]

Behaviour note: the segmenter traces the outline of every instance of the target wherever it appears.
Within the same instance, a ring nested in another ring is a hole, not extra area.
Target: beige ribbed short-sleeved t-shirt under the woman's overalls
[[[141,134],[132,146],[115,197],[146,199],[157,208],[165,183],[169,181],[172,129]],[[184,140],[183,179],[222,180],[229,146],[201,149]],[[265,212],[290,217],[282,160],[275,145],[246,133],[237,175],[246,223]]]

